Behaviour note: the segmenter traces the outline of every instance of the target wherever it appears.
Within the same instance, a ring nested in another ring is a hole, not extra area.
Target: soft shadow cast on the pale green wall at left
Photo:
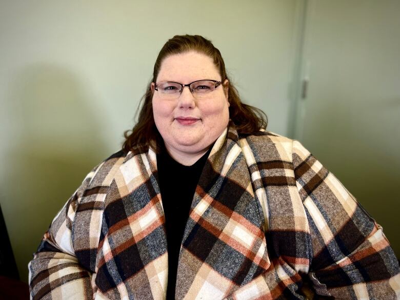
[[[12,142],[5,150],[0,201],[19,276],[27,282],[28,262],[52,218],[110,151],[95,102],[66,69],[25,68],[6,100]]]

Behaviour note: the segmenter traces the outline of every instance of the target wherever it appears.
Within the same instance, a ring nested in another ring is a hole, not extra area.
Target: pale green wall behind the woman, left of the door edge
[[[0,203],[21,277],[55,213],[133,125],[157,52],[202,34],[288,132],[294,1],[21,0],[0,9]]]

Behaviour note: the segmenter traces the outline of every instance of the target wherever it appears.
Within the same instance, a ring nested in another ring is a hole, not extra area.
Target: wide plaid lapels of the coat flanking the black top
[[[168,253],[154,150],[128,153],[114,174],[105,200],[96,285],[105,295],[113,287],[135,294],[165,291]],[[238,134],[227,128],[210,152],[193,197],[176,298],[226,298],[269,266],[263,212]]]

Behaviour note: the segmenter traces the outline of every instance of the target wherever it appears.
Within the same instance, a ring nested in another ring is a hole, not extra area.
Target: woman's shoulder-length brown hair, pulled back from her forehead
[[[212,58],[215,67],[221,75],[222,82],[228,79],[228,101],[229,101],[229,118],[230,126],[233,126],[238,133],[254,133],[261,128],[267,127],[267,116],[258,108],[242,103],[239,94],[229,80],[224,59],[221,52],[212,45],[211,41],[200,35],[175,35],[170,38],[158,53],[158,57],[154,64],[153,79],[156,81],[159,69],[164,59],[173,54],[181,54],[190,51],[205,54]],[[163,143],[163,139],[159,134],[153,117],[152,106],[153,91],[151,83],[147,88],[147,92],[141,99],[142,108],[139,111],[139,116],[136,125],[132,130],[125,132],[125,142],[123,150],[125,152],[139,151],[146,152],[149,146],[157,152]],[[137,113],[137,112],[136,112]]]

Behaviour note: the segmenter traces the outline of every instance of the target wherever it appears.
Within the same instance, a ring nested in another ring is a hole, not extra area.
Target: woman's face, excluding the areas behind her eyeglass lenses
[[[221,81],[210,57],[187,52],[164,59],[156,83],[172,81],[189,84],[201,79]],[[185,87],[176,99],[162,99],[153,94],[155,125],[164,139],[168,152],[176,156],[202,155],[225,130],[229,122],[228,90],[223,85],[196,99]]]

